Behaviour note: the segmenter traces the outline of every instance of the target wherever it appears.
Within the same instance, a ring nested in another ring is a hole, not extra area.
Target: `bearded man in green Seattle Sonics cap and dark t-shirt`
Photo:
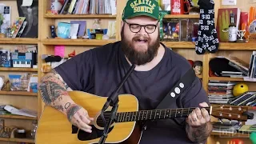
[[[86,50],[55,67],[40,83],[43,102],[66,114],[74,126],[88,134],[94,133],[90,126],[94,118],[70,98],[68,88],[110,96],[134,64],[134,71],[118,94],[133,94],[138,98],[139,110],[154,110],[174,84],[191,69],[186,58],[160,42],[158,2],[155,0],[128,0],[122,14],[121,35],[120,42]],[[210,114],[202,107],[208,105],[202,82],[195,78],[166,109],[197,109],[187,118],[147,122],[140,143],[206,142],[212,126]]]

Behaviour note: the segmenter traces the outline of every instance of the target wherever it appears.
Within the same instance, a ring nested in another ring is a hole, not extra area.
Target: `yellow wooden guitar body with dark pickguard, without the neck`
[[[90,134],[82,130],[74,129],[74,127],[72,129],[72,125],[65,114],[62,114],[51,106],[45,106],[38,121],[38,130],[35,137],[36,143],[98,143],[104,127],[101,123],[102,120],[97,119],[101,117],[99,114],[107,98],[98,97],[94,94],[88,94],[82,91],[70,91],[69,94],[74,102],[84,107],[90,117],[94,118],[94,122],[90,125],[93,127],[93,132]],[[138,99],[134,97],[134,95],[122,94],[119,95],[118,98],[118,112],[138,111]],[[105,143],[137,144],[141,134],[141,130],[136,125],[136,122],[117,122],[111,125]]]

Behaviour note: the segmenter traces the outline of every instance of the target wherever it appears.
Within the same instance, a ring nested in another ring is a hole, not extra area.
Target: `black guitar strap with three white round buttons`
[[[191,86],[196,75],[194,74],[193,68],[188,70],[186,74],[179,79],[178,82],[171,88],[170,92],[166,94],[166,97],[158,104],[155,110],[166,109],[171,105],[171,102],[176,102],[176,99],[184,92],[188,87]],[[146,130],[147,122],[142,122],[142,130]]]

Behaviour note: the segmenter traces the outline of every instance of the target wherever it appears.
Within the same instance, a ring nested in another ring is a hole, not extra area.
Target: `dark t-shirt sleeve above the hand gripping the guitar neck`
[[[210,106],[206,90],[203,89],[201,80],[197,77],[182,97],[184,107],[199,107],[199,103],[206,102]]]

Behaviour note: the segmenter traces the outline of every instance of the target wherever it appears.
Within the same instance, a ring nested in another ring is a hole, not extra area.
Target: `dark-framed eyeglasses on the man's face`
[[[126,22],[126,21],[124,21],[124,22]],[[156,28],[158,26],[158,23],[156,25],[153,25],[153,24],[139,25],[139,24],[128,23],[128,22],[126,22],[126,23],[130,26],[130,31],[133,33],[138,33],[142,29],[142,27],[144,27],[144,30],[146,31],[147,34],[152,34],[152,33],[154,33],[154,31],[156,30]]]

